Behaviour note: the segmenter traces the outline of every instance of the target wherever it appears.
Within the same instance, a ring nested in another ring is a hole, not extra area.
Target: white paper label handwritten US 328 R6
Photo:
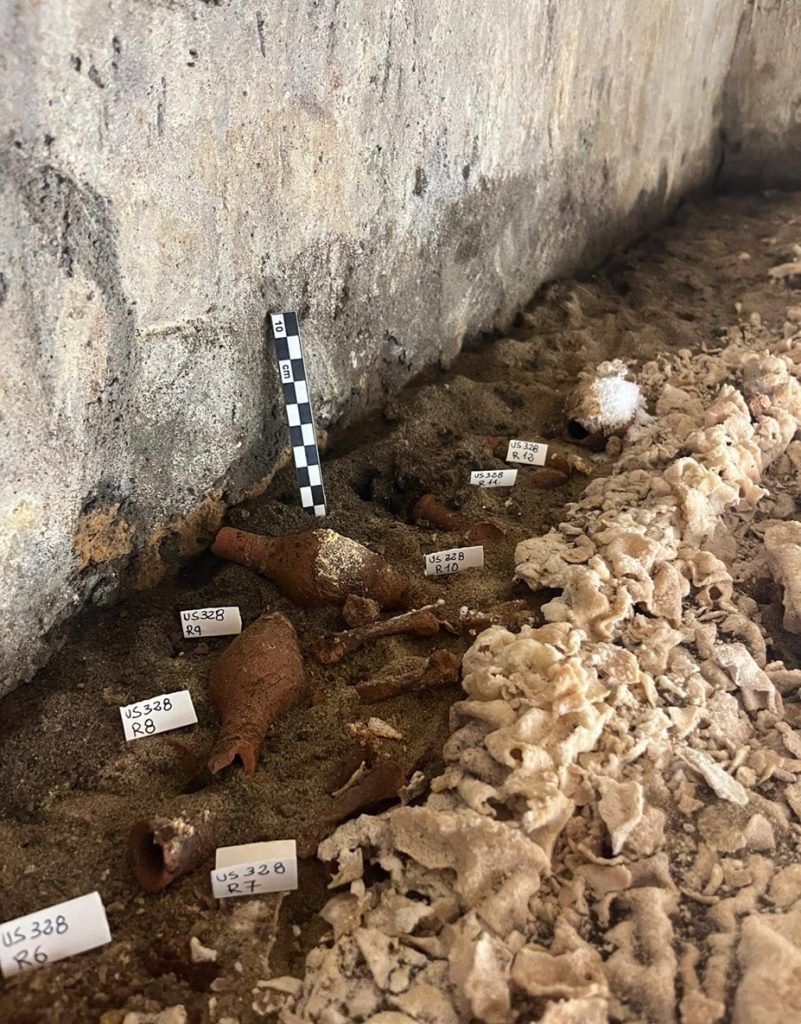
[[[10,978],[111,941],[100,894],[88,893],[0,925],[0,970]]]

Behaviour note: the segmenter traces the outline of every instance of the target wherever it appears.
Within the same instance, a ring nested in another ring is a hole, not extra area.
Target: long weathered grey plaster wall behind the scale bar
[[[742,0],[3,4],[0,693],[283,441],[263,317],[352,415],[718,160]]]

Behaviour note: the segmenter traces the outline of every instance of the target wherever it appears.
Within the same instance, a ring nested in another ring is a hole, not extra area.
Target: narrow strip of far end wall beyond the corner
[[[724,180],[801,185],[799,0],[749,0],[723,109]]]

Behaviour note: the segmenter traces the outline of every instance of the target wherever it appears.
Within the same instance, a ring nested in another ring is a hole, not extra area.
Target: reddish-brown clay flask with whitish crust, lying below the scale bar
[[[297,604],[342,604],[349,594],[382,608],[408,608],[418,596],[380,555],[333,529],[269,538],[223,526],[211,550],[256,569]]]

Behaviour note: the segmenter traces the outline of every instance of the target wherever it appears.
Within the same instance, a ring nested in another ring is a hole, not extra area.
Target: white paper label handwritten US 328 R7
[[[294,839],[223,846],[217,850],[211,891],[217,899],[284,892],[298,887]]]

